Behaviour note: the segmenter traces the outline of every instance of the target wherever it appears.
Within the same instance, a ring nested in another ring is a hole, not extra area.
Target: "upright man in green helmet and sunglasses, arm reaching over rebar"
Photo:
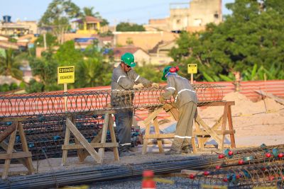
[[[133,91],[144,87],[158,87],[148,79],[139,76],[133,67],[136,66],[134,56],[126,52],[121,56],[121,63],[114,68],[111,76],[111,106],[121,108],[114,115],[119,138],[119,156],[134,155],[131,151],[131,126],[133,110],[123,108],[132,106]],[[130,90],[130,91],[129,91]]]

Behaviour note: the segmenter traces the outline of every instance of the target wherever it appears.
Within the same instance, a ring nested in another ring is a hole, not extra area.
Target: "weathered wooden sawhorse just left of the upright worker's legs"
[[[116,161],[119,161],[119,144],[116,142],[116,136],[114,132],[114,120],[111,115],[112,113],[113,112],[111,111],[107,111],[104,114],[104,125],[97,134],[97,136],[94,137],[94,139],[92,139],[90,143],[77,129],[74,124],[74,120],[71,117],[66,119],[65,139],[64,145],[62,145],[62,166],[65,166],[67,152],[70,149],[77,149],[77,155],[80,162],[84,161],[87,156],[91,155],[94,161],[96,161],[98,164],[102,164],[102,161],[104,159],[104,148],[113,148],[114,159]],[[106,143],[108,128],[111,134],[111,142]],[[75,136],[75,144],[69,144],[70,132],[72,132],[72,134],[74,134]],[[94,150],[94,148],[99,148],[99,151]]]

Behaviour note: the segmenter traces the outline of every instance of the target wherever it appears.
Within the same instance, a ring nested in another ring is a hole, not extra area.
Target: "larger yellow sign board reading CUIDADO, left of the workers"
[[[75,82],[75,67],[58,67],[58,84],[72,84]]]

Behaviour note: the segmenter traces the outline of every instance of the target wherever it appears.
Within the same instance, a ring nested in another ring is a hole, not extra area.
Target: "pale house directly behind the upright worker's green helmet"
[[[121,62],[121,55],[124,55],[126,52],[131,52],[135,57],[135,62],[141,66],[143,64],[150,63],[150,56],[147,52],[142,50],[140,47],[115,47],[114,48],[114,62],[119,64]]]

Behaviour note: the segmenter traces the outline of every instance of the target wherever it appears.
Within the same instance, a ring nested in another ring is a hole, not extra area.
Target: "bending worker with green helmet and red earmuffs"
[[[173,106],[178,108],[179,120],[175,130],[175,138],[166,151],[166,155],[192,152],[192,125],[197,116],[197,95],[190,81],[178,75],[178,67],[165,67],[163,81],[167,81],[165,93],[161,93],[159,101],[165,103],[171,96],[175,99]]]

